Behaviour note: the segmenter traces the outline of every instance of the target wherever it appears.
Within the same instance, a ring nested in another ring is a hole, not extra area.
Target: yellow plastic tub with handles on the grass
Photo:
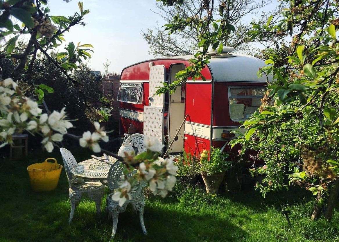
[[[54,162],[47,162],[54,160]],[[52,191],[57,185],[62,165],[54,158],[47,158],[43,163],[35,163],[27,167],[31,187],[34,191]]]

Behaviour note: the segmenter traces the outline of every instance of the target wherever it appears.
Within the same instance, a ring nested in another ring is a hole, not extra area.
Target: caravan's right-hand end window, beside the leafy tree
[[[260,87],[229,87],[228,102],[230,117],[233,121],[248,119],[261,105],[265,88]]]

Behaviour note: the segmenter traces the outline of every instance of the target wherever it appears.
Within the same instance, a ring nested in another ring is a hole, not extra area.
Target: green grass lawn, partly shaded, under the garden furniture
[[[91,155],[84,149],[72,151],[78,162]],[[105,198],[100,218],[95,215],[94,202],[83,199],[68,225],[64,169],[55,191],[35,193],[30,189],[26,167],[47,157],[62,163],[57,150],[18,161],[0,159],[0,242],[109,241],[112,220],[103,213]],[[131,208],[120,214],[114,241],[339,241],[338,207],[331,223],[311,221],[312,196],[302,190],[269,194],[266,199],[253,189],[219,196],[195,189],[177,194],[146,199],[146,236]],[[283,208],[291,211],[291,229],[281,215]]]

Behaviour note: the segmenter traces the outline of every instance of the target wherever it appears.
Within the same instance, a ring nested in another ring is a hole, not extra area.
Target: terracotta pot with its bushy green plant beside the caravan
[[[220,148],[211,147],[210,160],[200,161],[201,176],[207,193],[218,193],[226,170],[232,167],[232,162],[227,161],[227,157],[228,154],[222,153]]]

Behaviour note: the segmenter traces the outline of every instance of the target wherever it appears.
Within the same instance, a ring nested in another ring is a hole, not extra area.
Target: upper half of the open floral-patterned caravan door
[[[154,65],[149,68],[149,106],[163,107],[164,106],[164,94],[155,94],[158,86],[162,86],[161,82],[165,81],[165,66]]]

